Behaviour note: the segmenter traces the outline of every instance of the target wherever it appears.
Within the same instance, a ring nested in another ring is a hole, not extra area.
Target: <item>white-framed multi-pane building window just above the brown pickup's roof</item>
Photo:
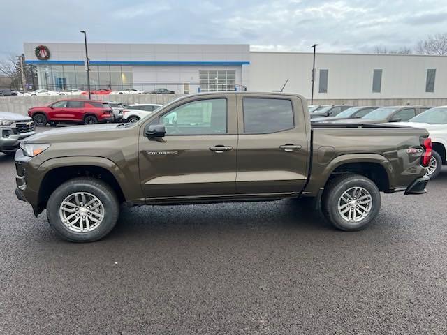
[[[236,70],[199,70],[200,91],[234,91]]]

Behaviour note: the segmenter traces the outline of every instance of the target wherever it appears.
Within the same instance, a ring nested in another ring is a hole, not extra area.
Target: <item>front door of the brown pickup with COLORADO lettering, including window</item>
[[[142,126],[139,160],[145,197],[163,200],[234,194],[236,114],[235,94],[196,97]],[[165,137],[145,137],[149,124],[164,124]]]

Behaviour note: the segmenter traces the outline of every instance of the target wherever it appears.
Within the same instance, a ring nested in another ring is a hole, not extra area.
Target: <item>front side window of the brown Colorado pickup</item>
[[[227,132],[226,99],[207,99],[175,107],[159,119],[166,135],[221,135]]]

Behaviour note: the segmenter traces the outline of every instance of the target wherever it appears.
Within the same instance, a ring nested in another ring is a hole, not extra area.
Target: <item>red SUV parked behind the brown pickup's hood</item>
[[[59,100],[45,107],[32,107],[28,115],[36,126],[45,126],[48,122],[97,124],[114,120],[112,108],[98,100]]]

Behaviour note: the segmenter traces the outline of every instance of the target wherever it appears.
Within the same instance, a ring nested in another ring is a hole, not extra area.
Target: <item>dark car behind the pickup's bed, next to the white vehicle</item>
[[[386,122],[405,122],[409,119],[416,117],[416,115],[429,110],[431,107],[425,106],[390,106],[390,107],[380,107],[372,112],[369,112],[364,117],[360,119],[340,119],[334,120],[333,122],[343,123],[343,124],[383,124]]]

